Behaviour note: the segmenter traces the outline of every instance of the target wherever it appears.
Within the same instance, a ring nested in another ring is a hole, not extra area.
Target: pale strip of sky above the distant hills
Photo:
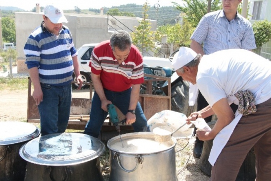
[[[181,4],[181,0],[147,0],[150,6],[159,3],[160,7],[173,6],[172,1]],[[36,3],[40,3],[40,6],[53,3],[62,9],[74,9],[74,6],[78,6],[80,9],[99,9],[101,7],[119,6],[128,3],[143,5],[145,2],[146,0],[0,0],[0,6],[14,6],[24,10],[32,10],[36,7]]]

